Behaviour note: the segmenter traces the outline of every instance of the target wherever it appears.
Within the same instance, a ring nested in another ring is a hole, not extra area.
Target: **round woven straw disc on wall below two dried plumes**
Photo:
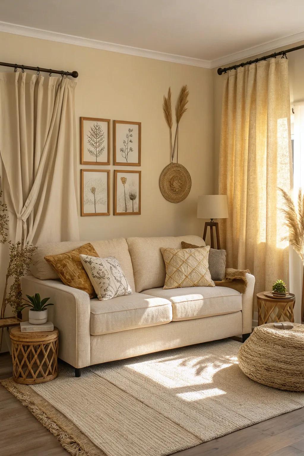
[[[191,176],[185,166],[170,163],[160,174],[160,192],[170,202],[181,202],[191,190]]]

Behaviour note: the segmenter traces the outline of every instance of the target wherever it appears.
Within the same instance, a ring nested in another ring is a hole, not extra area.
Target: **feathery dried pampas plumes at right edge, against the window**
[[[296,209],[292,198],[285,190],[279,188],[282,193],[285,207],[282,212],[285,216],[285,226],[288,228],[289,236],[283,240],[289,240],[304,264],[304,195],[299,189],[298,209]]]

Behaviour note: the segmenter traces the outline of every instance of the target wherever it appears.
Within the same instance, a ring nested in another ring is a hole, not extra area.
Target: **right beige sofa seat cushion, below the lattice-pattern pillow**
[[[172,321],[192,320],[242,310],[242,295],[232,288],[154,288],[145,290],[144,293],[169,300],[172,303]]]

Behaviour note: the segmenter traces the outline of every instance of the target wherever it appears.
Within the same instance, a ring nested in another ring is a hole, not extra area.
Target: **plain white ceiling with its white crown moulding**
[[[303,17],[303,0],[0,1],[0,31],[205,67],[304,39]]]

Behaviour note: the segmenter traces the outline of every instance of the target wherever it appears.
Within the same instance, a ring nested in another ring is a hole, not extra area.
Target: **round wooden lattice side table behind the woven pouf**
[[[295,298],[275,299],[268,298],[264,291],[257,294],[258,326],[264,323],[279,323],[291,321],[294,323]]]

